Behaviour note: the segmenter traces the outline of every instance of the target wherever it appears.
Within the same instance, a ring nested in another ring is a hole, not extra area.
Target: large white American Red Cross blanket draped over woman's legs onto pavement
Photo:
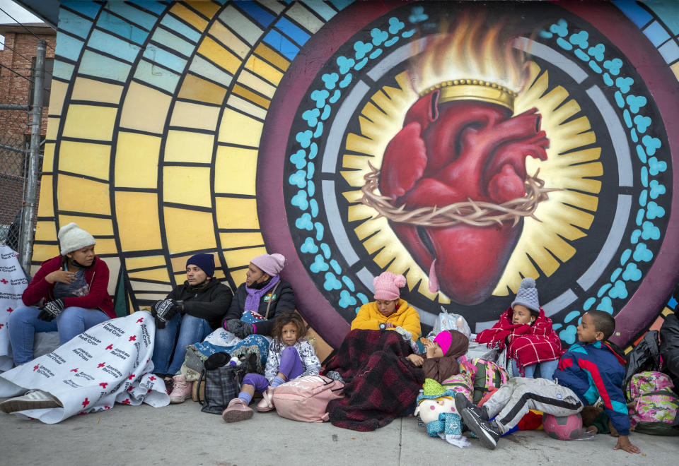
[[[156,324],[147,311],[105,321],[53,352],[0,374],[0,397],[27,389],[51,393],[63,408],[16,412],[47,424],[126,405],[166,406],[165,383],[152,374]]]

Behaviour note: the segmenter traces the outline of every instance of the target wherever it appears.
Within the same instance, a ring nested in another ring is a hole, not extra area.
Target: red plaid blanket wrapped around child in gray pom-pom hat
[[[522,376],[524,367],[538,362],[555,361],[564,354],[559,335],[552,330],[552,319],[545,317],[542,308],[532,325],[513,324],[512,316],[513,310],[510,307],[500,316],[499,322],[493,325],[493,328],[479,333],[476,341],[500,349],[504,349],[505,342],[508,342],[507,357],[516,361]]]

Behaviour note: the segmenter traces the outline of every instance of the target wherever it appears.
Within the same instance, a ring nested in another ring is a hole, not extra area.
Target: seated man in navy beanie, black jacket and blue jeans
[[[151,306],[156,318],[153,366],[156,374],[172,380],[170,402],[190,398],[191,384],[178,374],[187,345],[202,340],[219,328],[231,305],[231,288],[214,279],[214,256],[199,253],[186,261],[186,281]]]

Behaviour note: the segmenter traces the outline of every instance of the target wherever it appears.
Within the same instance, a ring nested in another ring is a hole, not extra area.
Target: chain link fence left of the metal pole
[[[0,244],[19,251],[28,174],[28,138],[0,133]],[[31,223],[35,228],[35,219]]]

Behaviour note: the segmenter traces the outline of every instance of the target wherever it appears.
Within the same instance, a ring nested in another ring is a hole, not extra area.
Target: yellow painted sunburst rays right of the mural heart
[[[496,296],[509,294],[508,287],[516,292],[521,276],[537,278],[542,273],[549,277],[574,256],[576,249],[570,243],[586,236],[601,189],[601,181],[596,179],[603,175],[601,149],[592,146],[596,134],[589,119],[562,86],[550,88],[547,71],[530,62],[528,72],[531,84],[516,98],[514,114],[537,107],[550,148],[545,161],[528,157],[526,169],[533,174],[539,168],[545,187],[562,191],[550,193],[549,201],[538,206],[535,217],[541,222],[524,219],[521,239],[494,289]]]

